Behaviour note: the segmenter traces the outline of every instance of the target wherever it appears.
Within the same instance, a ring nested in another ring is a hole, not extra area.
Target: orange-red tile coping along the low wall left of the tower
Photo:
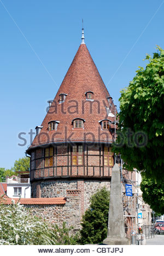
[[[3,203],[10,205],[12,200],[19,201],[18,198],[5,198]],[[20,199],[21,205],[65,205],[66,197],[51,197],[51,198],[22,198]]]

